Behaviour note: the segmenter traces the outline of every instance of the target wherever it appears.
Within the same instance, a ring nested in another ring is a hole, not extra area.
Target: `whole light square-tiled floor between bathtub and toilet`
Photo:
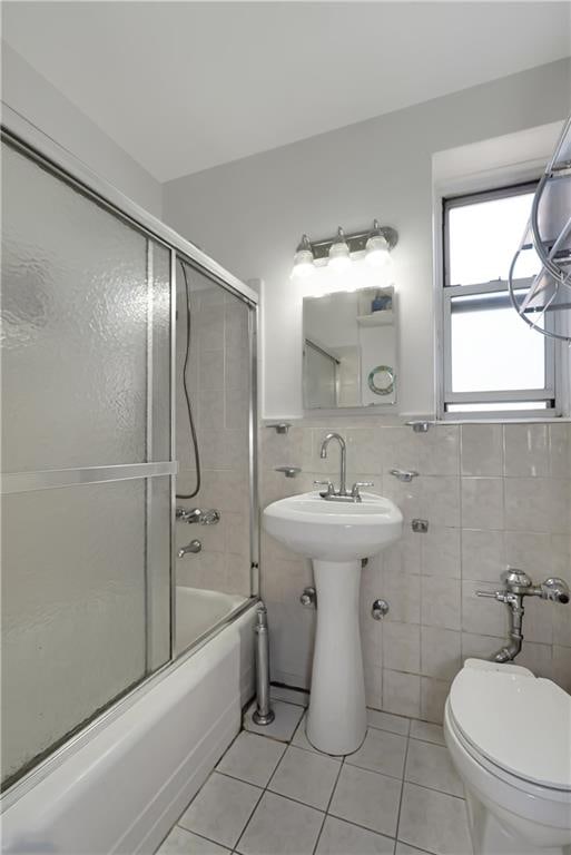
[[[331,757],[284,697],[269,727],[246,714],[157,855],[471,855],[441,727],[370,710],[363,746]]]

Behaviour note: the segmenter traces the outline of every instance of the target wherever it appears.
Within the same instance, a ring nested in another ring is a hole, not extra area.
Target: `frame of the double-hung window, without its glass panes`
[[[490,282],[473,283],[471,285],[452,285],[450,283],[450,212],[454,208],[474,205],[481,202],[500,199],[533,191],[538,180],[526,180],[518,184],[501,185],[493,189],[461,193],[441,196],[442,236],[440,252],[442,253],[442,267],[440,271],[440,304],[441,304],[441,348],[439,354],[439,417],[443,421],[464,420],[545,420],[560,415],[558,405],[558,365],[555,342],[544,337],[545,354],[545,384],[539,390],[505,390],[505,391],[479,391],[453,392],[452,391],[452,299],[457,296],[471,296],[482,294],[505,294],[509,297],[508,279],[492,279]],[[514,247],[515,253],[516,247]],[[532,278],[514,279],[514,288],[528,287]],[[547,321],[553,316],[547,315]],[[544,401],[547,406],[541,410],[469,410],[450,411],[454,404],[483,404],[534,402]]]

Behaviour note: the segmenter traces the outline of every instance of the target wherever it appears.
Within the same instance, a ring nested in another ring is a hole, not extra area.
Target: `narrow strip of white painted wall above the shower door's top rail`
[[[120,146],[2,42],[2,101],[157,217],[163,187]],[[149,117],[149,121],[151,117]]]

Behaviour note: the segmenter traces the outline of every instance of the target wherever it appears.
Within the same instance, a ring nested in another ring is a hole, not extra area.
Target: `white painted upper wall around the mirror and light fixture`
[[[301,234],[375,216],[400,233],[401,412],[434,412],[433,154],[561,120],[570,91],[561,60],[165,185],[170,225],[242,278],[264,281],[264,415],[303,413],[307,286],[288,278]]]

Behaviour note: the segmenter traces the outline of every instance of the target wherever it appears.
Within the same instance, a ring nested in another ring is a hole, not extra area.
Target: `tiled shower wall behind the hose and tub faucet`
[[[177,277],[177,492],[196,484],[195,460],[183,394],[186,345],[185,291]],[[226,593],[250,593],[248,502],[248,308],[189,272],[191,348],[188,382],[200,448],[203,487],[185,508],[216,508],[216,525],[177,522],[177,549],[198,538],[199,554],[177,559],[178,584]]]

